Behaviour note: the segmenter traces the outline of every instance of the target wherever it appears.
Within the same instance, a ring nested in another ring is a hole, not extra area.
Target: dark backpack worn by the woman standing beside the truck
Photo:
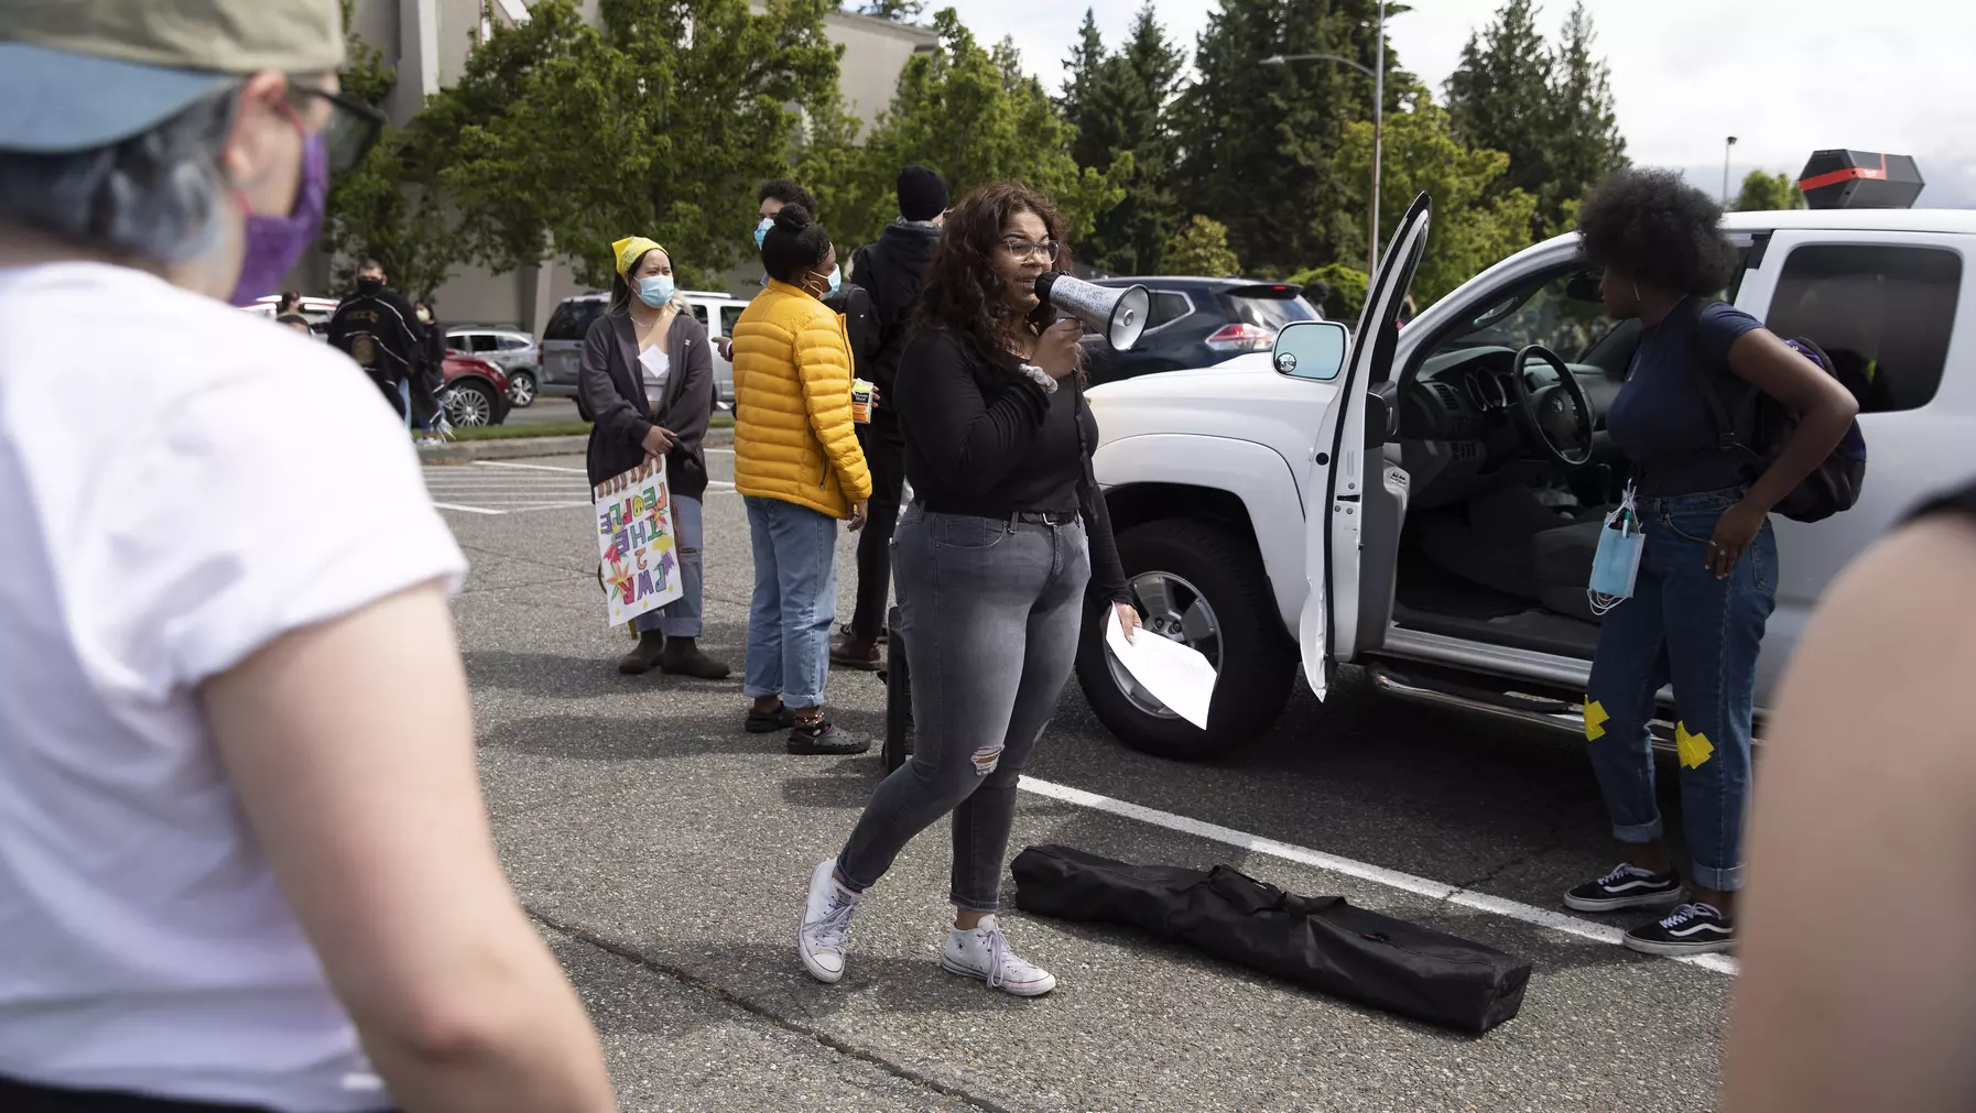
[[[1703,308],[1707,308],[1707,302],[1695,300],[1693,314],[1697,322]],[[1699,334],[1689,335],[1699,337]],[[1816,363],[1826,375],[1838,379],[1861,403],[1859,408],[1865,408],[1863,383],[1848,383],[1822,347],[1802,335],[1786,339],[1784,345]],[[1792,434],[1798,432],[1800,414],[1759,389],[1751,389],[1749,401],[1739,412],[1731,414],[1703,371],[1699,345],[1691,351],[1688,365],[1695,379],[1695,389],[1701,391],[1701,401],[1707,403],[1709,412],[1715,416],[1715,446],[1723,452],[1741,452],[1757,464],[1759,472],[1769,468],[1784,446],[1790,444]],[[1749,444],[1737,438],[1739,428],[1751,430]],[[1824,521],[1840,511],[1850,511],[1859,501],[1859,487],[1863,485],[1865,434],[1859,432],[1859,422],[1853,420],[1832,454],[1802,483],[1792,487],[1774,509],[1792,521]]]

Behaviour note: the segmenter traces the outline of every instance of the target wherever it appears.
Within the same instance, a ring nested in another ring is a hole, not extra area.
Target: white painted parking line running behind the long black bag
[[[1490,896],[1486,892],[1474,892],[1470,888],[1458,888],[1446,882],[1437,882],[1415,874],[1403,874],[1399,870],[1389,870],[1385,866],[1373,866],[1369,862],[1340,858],[1338,854],[1326,854],[1324,851],[1310,851],[1290,843],[1263,839],[1261,835],[1249,835],[1247,831],[1235,831],[1233,827],[1221,827],[1219,823],[1205,823],[1201,819],[1174,815],[1172,811],[1160,811],[1154,807],[1126,803],[1122,799],[1112,799],[1109,795],[1099,795],[1071,785],[1039,781],[1035,778],[1022,778],[1020,787],[1024,791],[1033,791],[1035,795],[1043,795],[1063,803],[1075,803],[1079,807],[1089,807],[1093,811],[1105,811],[1111,815],[1122,815],[1126,819],[1138,819],[1140,823],[1152,823],[1154,827],[1166,827],[1168,831],[1180,831],[1182,835],[1194,835],[1197,839],[1209,839],[1213,843],[1227,843],[1229,847],[1241,847],[1243,851],[1255,854],[1269,854],[1273,858],[1282,858],[1286,862],[1316,866],[1320,870],[1330,870],[1334,874],[1346,874],[1348,878],[1383,884],[1387,888],[1397,888],[1403,892],[1411,892],[1415,896],[1425,896],[1429,900],[1444,900],[1448,904],[1458,904],[1462,908],[1474,908],[1476,912],[1506,916],[1510,920],[1520,920],[1523,924],[1533,924],[1537,928],[1549,928],[1551,931],[1563,931],[1565,935],[1577,935],[1579,939],[1591,939],[1595,943],[1610,943],[1616,947],[1624,937],[1624,931],[1612,928],[1610,924],[1595,924],[1591,920],[1579,920],[1577,916],[1565,916],[1563,912],[1551,912],[1549,908],[1537,908],[1535,904],[1522,904],[1518,900],[1506,900],[1500,896]],[[1684,955],[1674,961],[1725,975],[1737,973],[1737,961],[1729,955]]]

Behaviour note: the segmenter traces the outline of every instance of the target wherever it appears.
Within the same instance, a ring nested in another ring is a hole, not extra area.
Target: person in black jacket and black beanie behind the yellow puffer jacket
[[[852,284],[869,290],[871,318],[877,326],[877,351],[871,369],[858,375],[877,387],[871,420],[858,426],[858,442],[871,466],[869,519],[858,537],[858,610],[850,626],[830,647],[830,659],[856,669],[875,669],[879,641],[885,639],[885,592],[891,588],[891,531],[899,521],[899,493],[905,480],[905,440],[899,434],[899,412],[893,408],[893,383],[899,359],[911,339],[909,324],[919,288],[927,280],[927,264],[941,243],[941,221],[947,217],[947,182],[925,166],[899,172],[899,221],[885,229],[877,243],[852,255]],[[856,326],[856,322],[854,322]],[[852,330],[858,341],[858,330]]]

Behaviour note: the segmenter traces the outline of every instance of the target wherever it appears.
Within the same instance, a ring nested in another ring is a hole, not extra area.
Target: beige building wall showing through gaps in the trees
[[[490,4],[480,0],[358,0],[354,10],[358,37],[381,49],[385,61],[397,67],[397,87],[385,103],[391,122],[403,126],[419,112],[425,97],[458,81],[474,43],[486,34],[486,20],[506,24],[514,16],[526,18],[526,0],[492,0]],[[599,0],[583,0],[581,10],[587,20],[595,22]],[[763,4],[757,2],[755,10],[763,10]],[[931,51],[939,43],[931,30],[852,14],[826,16],[826,32],[834,43],[844,47],[840,89],[846,109],[865,128],[891,105],[891,93],[907,59],[913,53]],[[737,235],[745,235],[745,229],[737,229]],[[338,296],[344,290],[328,288],[330,270],[332,260],[316,253],[296,266],[287,288]],[[747,288],[749,284],[741,284],[737,292]],[[435,292],[433,302],[439,320],[447,324],[510,324],[539,335],[557,302],[581,292],[583,286],[575,282],[569,268],[549,260],[510,274],[462,266]]]

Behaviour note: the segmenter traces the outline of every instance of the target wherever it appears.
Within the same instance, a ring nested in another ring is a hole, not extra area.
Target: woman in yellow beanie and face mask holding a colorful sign
[[[666,460],[672,525],[678,531],[678,600],[640,614],[638,645],[618,661],[628,675],[662,673],[717,681],[727,665],[700,649],[701,555],[700,499],[707,491],[701,446],[713,416],[713,355],[707,330],[694,320],[672,282],[672,257],[656,241],[626,237],[611,245],[617,276],[611,308],[583,335],[577,389],[593,414],[585,472],[591,485]]]

